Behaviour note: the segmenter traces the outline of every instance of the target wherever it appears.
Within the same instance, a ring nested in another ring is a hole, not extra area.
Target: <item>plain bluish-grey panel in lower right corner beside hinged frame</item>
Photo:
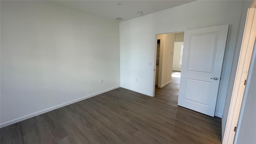
[[[255,43],[256,44],[256,43]],[[256,45],[248,72],[234,144],[256,144]]]

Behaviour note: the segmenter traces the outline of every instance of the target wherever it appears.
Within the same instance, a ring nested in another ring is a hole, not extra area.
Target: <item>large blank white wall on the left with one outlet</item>
[[[1,1],[1,126],[118,86],[117,22],[46,1]]]

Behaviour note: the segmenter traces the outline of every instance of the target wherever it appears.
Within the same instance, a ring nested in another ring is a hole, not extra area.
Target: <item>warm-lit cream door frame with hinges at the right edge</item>
[[[254,40],[256,35],[256,1],[252,2],[247,11],[246,24],[244,26],[244,35],[242,46],[239,54],[238,65],[236,69],[236,77],[234,81],[230,106],[228,110],[228,118],[224,130],[223,144],[232,144],[234,142],[234,128],[237,126],[238,117],[241,110],[242,99],[244,96],[244,80],[248,76],[252,51],[254,48]]]

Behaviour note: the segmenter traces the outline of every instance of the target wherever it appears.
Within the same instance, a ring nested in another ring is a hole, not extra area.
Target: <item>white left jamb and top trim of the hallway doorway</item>
[[[157,50],[157,35],[160,34],[168,34],[168,33],[178,33],[178,32],[184,32],[185,30],[188,30],[188,28],[182,28],[182,29],[176,29],[176,30],[166,30],[166,31],[160,31],[155,33],[155,47],[154,47],[154,72],[153,72],[153,96],[155,96],[155,89],[156,89],[156,50]],[[161,44],[160,44],[161,45]],[[160,58],[159,58],[160,59]],[[160,62],[160,60],[159,60]],[[159,64],[160,69],[160,64]],[[158,70],[158,76],[159,76],[159,70]],[[158,77],[159,82],[159,77]]]

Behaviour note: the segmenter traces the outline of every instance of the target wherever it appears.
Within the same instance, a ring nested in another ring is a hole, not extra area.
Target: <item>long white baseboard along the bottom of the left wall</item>
[[[69,101],[69,102],[65,102],[65,103],[63,103],[63,104],[59,104],[59,105],[53,106],[53,107],[51,107],[51,108],[47,108],[47,109],[44,109],[44,110],[40,110],[39,112],[34,112],[34,113],[32,113],[32,114],[28,114],[28,115],[26,115],[26,116],[22,116],[22,117],[20,117],[20,118],[14,119],[14,120],[10,120],[10,121],[8,121],[8,122],[4,122],[4,123],[0,124],[0,128],[3,128],[3,127],[5,127],[5,126],[9,126],[9,125],[11,125],[11,124],[15,124],[16,122],[20,122],[20,121],[26,120],[26,119],[28,119],[28,118],[32,118],[32,117],[34,117],[34,116],[38,116],[38,115],[40,115],[40,114],[44,114],[44,113],[46,113],[46,112],[50,112],[50,111],[52,111],[52,110],[55,110],[55,109],[57,109],[57,108],[61,108],[61,107],[63,107],[63,106],[67,106],[67,105],[70,105],[70,104],[79,102],[79,101],[81,101],[81,100],[85,100],[85,99],[87,99],[87,98],[91,98],[91,97],[93,97],[93,96],[97,96],[97,95],[99,95],[99,94],[103,94],[104,92],[108,92],[108,91],[114,90],[114,89],[116,89],[116,88],[120,88],[120,86],[115,86],[115,87],[113,87],[113,88],[108,88],[108,89],[106,89],[106,90],[102,90],[102,91],[100,91],[100,92],[96,92],[96,93],[94,93],[94,94],[90,94],[90,95],[88,95],[88,96],[84,96],[84,97],[82,97],[82,98],[78,98],[78,99],[76,99],[76,100],[72,100],[72,101]]]

